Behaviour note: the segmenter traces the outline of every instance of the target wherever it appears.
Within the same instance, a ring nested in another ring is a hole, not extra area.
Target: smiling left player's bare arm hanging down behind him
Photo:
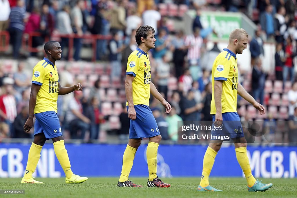
[[[41,86],[37,85],[35,83],[31,84],[31,93],[30,93],[30,99],[29,99],[29,118],[27,119],[25,125],[24,125],[24,131],[28,132],[31,130],[33,126],[33,118],[34,118],[34,109],[36,105],[36,98],[37,93],[39,92]]]

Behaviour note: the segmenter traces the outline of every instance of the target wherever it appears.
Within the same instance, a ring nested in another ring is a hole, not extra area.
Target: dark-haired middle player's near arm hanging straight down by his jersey
[[[132,82],[134,80],[133,75],[126,75],[126,80],[125,80],[125,93],[126,93],[126,98],[128,102],[128,117],[131,120],[136,119],[136,111],[134,109],[134,103],[133,103],[133,91],[132,91]]]

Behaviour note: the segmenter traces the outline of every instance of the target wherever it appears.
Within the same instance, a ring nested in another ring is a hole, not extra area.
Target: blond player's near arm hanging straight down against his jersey
[[[214,103],[216,105],[216,120],[214,124],[221,125],[223,121],[222,117],[222,86],[223,80],[214,81]]]

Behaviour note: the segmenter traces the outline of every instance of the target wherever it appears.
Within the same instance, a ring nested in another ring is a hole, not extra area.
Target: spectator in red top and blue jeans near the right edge
[[[285,57],[287,59],[285,61],[284,69],[283,69],[283,81],[285,84],[288,75],[290,75],[290,81],[293,84],[294,79],[295,79],[293,58],[296,56],[296,52],[294,52],[294,50],[293,50],[292,38],[290,36],[288,36],[286,41],[287,41],[287,45],[285,47]]]

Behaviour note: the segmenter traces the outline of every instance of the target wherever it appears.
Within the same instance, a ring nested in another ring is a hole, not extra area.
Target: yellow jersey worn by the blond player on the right
[[[238,69],[236,54],[224,49],[214,60],[211,71],[212,100],[210,114],[216,114],[214,102],[214,81],[224,80],[222,85],[222,113],[236,112]]]

